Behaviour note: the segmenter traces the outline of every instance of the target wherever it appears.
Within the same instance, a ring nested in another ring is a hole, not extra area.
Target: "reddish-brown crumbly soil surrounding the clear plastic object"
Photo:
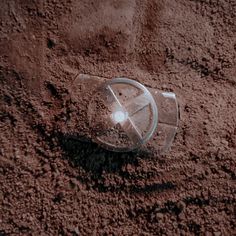
[[[235,0],[2,0],[0,235],[235,235],[235,65]],[[171,151],[66,134],[77,73],[174,91]]]

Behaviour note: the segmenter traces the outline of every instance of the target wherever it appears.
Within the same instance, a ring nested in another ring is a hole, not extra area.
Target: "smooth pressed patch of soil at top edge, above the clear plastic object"
[[[91,5],[90,12],[75,5],[72,14],[78,17],[63,32],[70,49],[109,61],[129,54],[133,47],[135,0],[101,1],[96,8],[91,1],[87,5]]]

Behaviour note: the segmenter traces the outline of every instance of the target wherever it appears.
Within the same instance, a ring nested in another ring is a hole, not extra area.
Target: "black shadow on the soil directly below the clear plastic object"
[[[129,172],[124,170],[127,164],[135,167],[140,166],[140,160],[151,160],[152,150],[117,153],[107,151],[88,140],[81,141],[81,138],[72,135],[60,134],[57,137],[65,158],[69,161],[70,165],[82,167],[89,173],[95,183],[93,188],[99,192],[150,193],[175,189],[175,185],[171,182],[153,183],[145,186],[133,184],[135,179],[140,178],[140,174],[139,176],[136,176],[135,173],[130,175]],[[125,184],[107,186],[104,174],[109,173],[115,174],[131,184],[128,184],[128,187]],[[157,174],[151,173],[152,176]],[[148,176],[145,177],[150,178]]]

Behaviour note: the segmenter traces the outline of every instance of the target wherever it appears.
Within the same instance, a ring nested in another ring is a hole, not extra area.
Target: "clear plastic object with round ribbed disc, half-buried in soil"
[[[87,116],[78,119],[77,127],[87,126],[82,135],[103,148],[125,152],[148,143],[163,153],[173,142],[178,126],[174,93],[147,88],[127,78],[85,74],[76,77],[72,90],[74,101],[83,103],[79,114]]]

